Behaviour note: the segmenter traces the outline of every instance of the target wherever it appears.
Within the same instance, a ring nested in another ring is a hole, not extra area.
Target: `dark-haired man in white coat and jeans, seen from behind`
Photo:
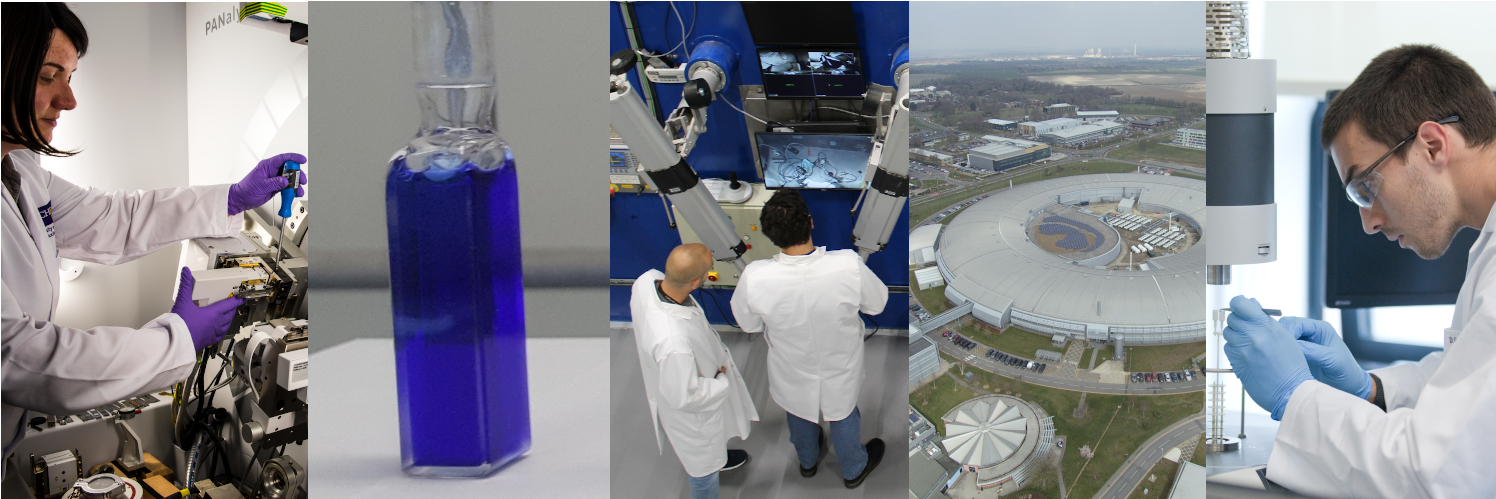
[[[889,302],[889,287],[856,251],[826,251],[811,241],[811,211],[794,190],[779,190],[758,217],[779,248],[772,260],[749,263],[733,291],[733,317],[744,332],[769,341],[769,394],[787,412],[800,475],[820,468],[830,423],[832,445],[847,489],[862,486],[883,459],[883,441],[862,444],[857,394],[863,378],[863,323]]]

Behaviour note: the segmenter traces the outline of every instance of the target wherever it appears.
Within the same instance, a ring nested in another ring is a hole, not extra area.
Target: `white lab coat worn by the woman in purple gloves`
[[[0,188],[6,457],[25,436],[28,409],[76,414],[162,390],[186,378],[196,359],[177,314],[162,314],[142,329],[54,324],[58,257],[126,263],[183,239],[233,236],[244,226],[242,217],[229,217],[229,185],[105,193],[42,169],[33,151],[9,157],[24,199],[18,211],[9,190]]]

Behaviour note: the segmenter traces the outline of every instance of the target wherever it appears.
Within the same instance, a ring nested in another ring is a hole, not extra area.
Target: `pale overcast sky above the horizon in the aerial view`
[[[1204,1],[910,1],[916,60],[1008,54],[1204,55]]]

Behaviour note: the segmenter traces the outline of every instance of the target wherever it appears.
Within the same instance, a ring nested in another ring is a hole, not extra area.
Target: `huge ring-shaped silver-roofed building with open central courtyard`
[[[945,297],[996,327],[1128,345],[1203,341],[1204,217],[1204,181],[1065,176],[966,208],[936,238],[935,260]]]

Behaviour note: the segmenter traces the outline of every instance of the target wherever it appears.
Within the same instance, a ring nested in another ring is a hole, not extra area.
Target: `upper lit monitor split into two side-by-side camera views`
[[[860,99],[862,52],[760,48],[763,94],[769,99]]]

